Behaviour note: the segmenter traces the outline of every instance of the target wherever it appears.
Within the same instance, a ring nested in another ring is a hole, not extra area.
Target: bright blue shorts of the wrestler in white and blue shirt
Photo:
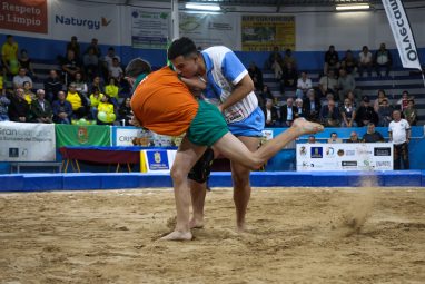
[[[228,124],[233,135],[246,137],[261,137],[264,130],[264,112],[257,107],[247,118],[241,121]]]

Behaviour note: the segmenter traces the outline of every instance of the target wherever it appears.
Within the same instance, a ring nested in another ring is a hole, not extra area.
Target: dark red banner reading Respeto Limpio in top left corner
[[[47,33],[47,0],[0,1],[0,29]]]

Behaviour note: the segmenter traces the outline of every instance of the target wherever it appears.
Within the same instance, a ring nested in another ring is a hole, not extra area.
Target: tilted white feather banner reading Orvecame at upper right
[[[411,25],[401,0],[383,0],[383,6],[393,31],[399,58],[404,68],[421,68],[419,57],[416,50]]]

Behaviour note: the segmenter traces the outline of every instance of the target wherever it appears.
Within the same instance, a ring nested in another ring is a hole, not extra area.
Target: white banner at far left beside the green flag
[[[0,161],[55,161],[55,125],[0,123]]]

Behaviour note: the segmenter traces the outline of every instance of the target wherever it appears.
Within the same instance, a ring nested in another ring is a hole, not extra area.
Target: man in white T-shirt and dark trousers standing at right
[[[394,169],[409,169],[408,143],[411,141],[411,126],[406,119],[402,118],[399,110],[393,111],[393,121],[389,123],[389,141],[394,144]]]

